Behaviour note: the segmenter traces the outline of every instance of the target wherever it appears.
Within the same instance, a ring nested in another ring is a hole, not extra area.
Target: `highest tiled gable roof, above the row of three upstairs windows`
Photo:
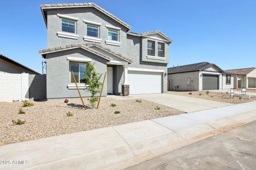
[[[131,29],[130,25],[126,24],[121,19],[117,18],[116,16],[114,16],[110,12],[104,10],[104,8],[96,5],[96,3],[90,3],[90,2],[88,2],[88,3],[50,3],[50,4],[40,5],[40,8],[42,10],[42,14],[43,14],[43,17],[44,17],[44,22],[46,23],[46,27],[47,27],[47,19],[46,19],[46,13],[44,12],[44,10],[47,10],[49,8],[73,8],[73,7],[94,7],[98,11],[102,12],[103,14],[105,14],[105,15],[109,16],[110,18],[114,19],[116,22],[125,26],[128,30]]]

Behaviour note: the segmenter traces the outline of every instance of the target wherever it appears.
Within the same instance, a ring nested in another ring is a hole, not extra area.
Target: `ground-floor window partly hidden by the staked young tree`
[[[86,80],[85,80],[86,65],[85,65],[85,63],[71,62],[70,63],[70,73],[71,73],[71,71],[73,71],[77,83],[86,83]],[[75,83],[72,73],[71,73],[71,83]]]

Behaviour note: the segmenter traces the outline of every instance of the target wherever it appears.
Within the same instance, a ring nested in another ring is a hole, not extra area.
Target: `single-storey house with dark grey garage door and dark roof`
[[[209,62],[168,68],[170,90],[228,90],[234,87],[234,76]]]

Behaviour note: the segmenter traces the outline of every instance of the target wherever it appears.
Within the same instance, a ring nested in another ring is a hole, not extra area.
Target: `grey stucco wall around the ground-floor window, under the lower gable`
[[[106,71],[106,59],[96,56],[83,49],[71,49],[57,53],[47,54],[47,99],[79,97],[76,89],[67,88],[70,83],[69,61],[67,57],[91,58],[98,73],[101,73],[100,81],[103,82]],[[107,79],[105,80],[105,82]],[[80,90],[83,97],[89,97],[87,90]],[[106,83],[102,96],[106,96]]]

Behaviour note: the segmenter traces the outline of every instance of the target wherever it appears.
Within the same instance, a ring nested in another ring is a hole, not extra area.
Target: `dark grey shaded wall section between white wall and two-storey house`
[[[44,100],[46,99],[46,75],[29,75],[29,99]]]

